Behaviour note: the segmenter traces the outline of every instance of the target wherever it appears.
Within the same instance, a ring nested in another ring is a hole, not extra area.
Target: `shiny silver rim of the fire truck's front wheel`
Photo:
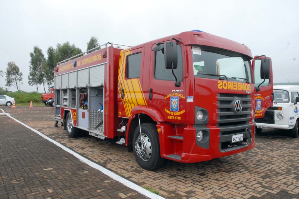
[[[148,161],[152,155],[152,144],[149,140],[149,137],[145,134],[138,136],[135,141],[135,152],[143,161]]]

